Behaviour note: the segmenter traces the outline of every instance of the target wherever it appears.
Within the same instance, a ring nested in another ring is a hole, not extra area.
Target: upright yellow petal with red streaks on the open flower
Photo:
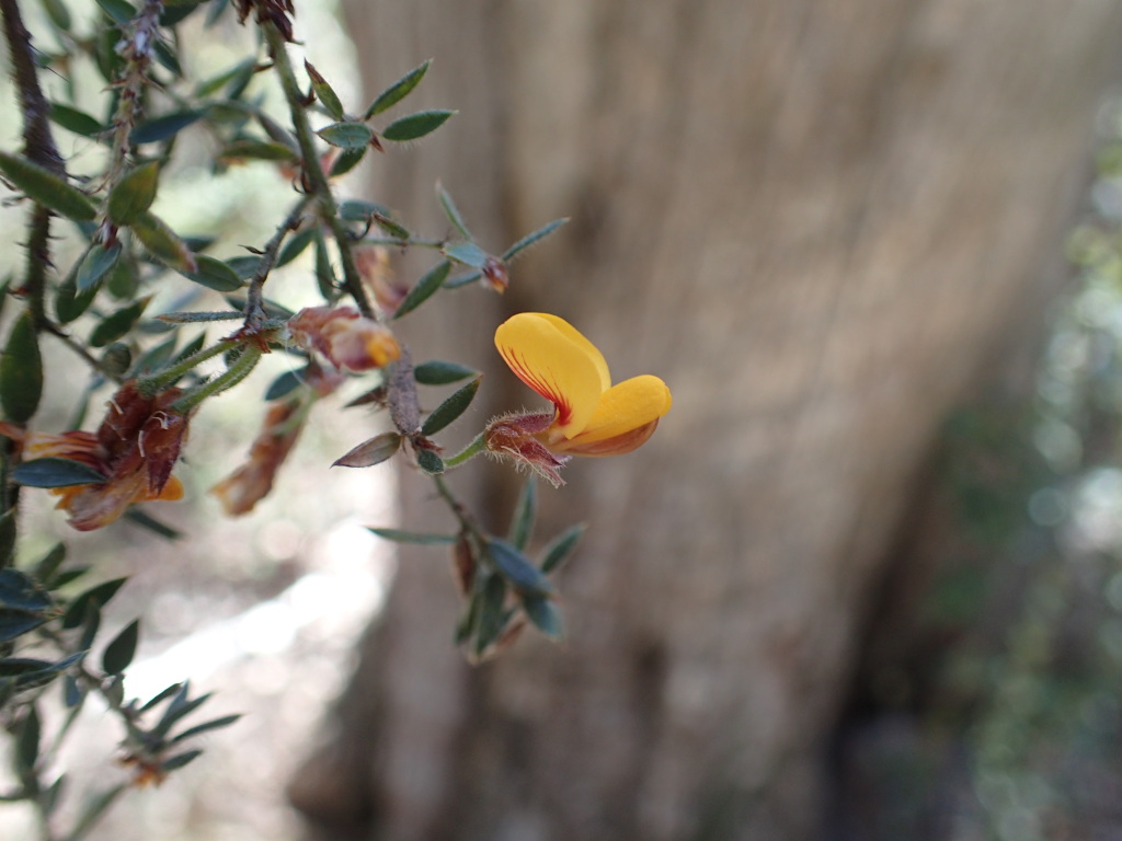
[[[518,379],[557,406],[553,429],[565,437],[588,425],[611,382],[604,354],[554,315],[508,318],[495,331],[495,346]]]

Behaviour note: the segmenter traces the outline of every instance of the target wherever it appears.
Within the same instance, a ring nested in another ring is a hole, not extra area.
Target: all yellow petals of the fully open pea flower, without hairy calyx
[[[495,331],[511,370],[553,404],[553,419],[534,437],[553,453],[620,455],[644,444],[670,412],[670,389],[643,375],[613,386],[596,345],[567,321],[519,313]]]

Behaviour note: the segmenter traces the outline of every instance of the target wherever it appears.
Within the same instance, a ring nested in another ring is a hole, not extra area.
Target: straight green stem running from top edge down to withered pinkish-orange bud
[[[350,235],[342,220],[339,219],[339,210],[335,205],[334,196],[331,194],[331,185],[328,184],[328,177],[323,174],[323,168],[320,166],[320,158],[315,154],[314,135],[312,126],[307,121],[307,112],[303,103],[304,94],[300,90],[300,83],[296,81],[296,75],[293,72],[292,62],[288,59],[284,36],[274,24],[265,22],[261,25],[261,29],[265,33],[269,55],[273,58],[273,66],[280,77],[280,87],[284,90],[284,96],[292,114],[292,123],[296,131],[296,142],[300,145],[300,155],[303,158],[307,185],[320,203],[320,216],[328,228],[331,229],[331,233],[339,247],[339,259],[343,267],[343,283],[347,286],[347,292],[355,298],[355,303],[358,304],[359,312],[362,315],[367,318],[379,321],[380,318],[370,304],[366,289],[362,288],[362,280],[358,267],[355,265],[355,256],[351,253]]]

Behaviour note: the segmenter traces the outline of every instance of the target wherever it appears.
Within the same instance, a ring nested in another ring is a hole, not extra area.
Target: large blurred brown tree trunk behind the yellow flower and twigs
[[[674,407],[642,451],[544,495],[550,528],[590,523],[565,645],[527,635],[471,669],[444,564],[405,554],[294,802],[333,841],[813,837],[821,747],[925,455],[1031,344],[1061,275],[1122,7],[351,6],[371,93],[435,56],[405,110],[461,111],[379,157],[379,200],[443,230],[440,175],[496,251],[573,216],[505,298],[465,292],[420,324],[425,355],[484,364],[504,315],[544,309],[619,378],[662,376]],[[534,405],[512,383],[485,390]],[[458,487],[499,510],[505,473]],[[434,507],[406,488],[415,525]]]

